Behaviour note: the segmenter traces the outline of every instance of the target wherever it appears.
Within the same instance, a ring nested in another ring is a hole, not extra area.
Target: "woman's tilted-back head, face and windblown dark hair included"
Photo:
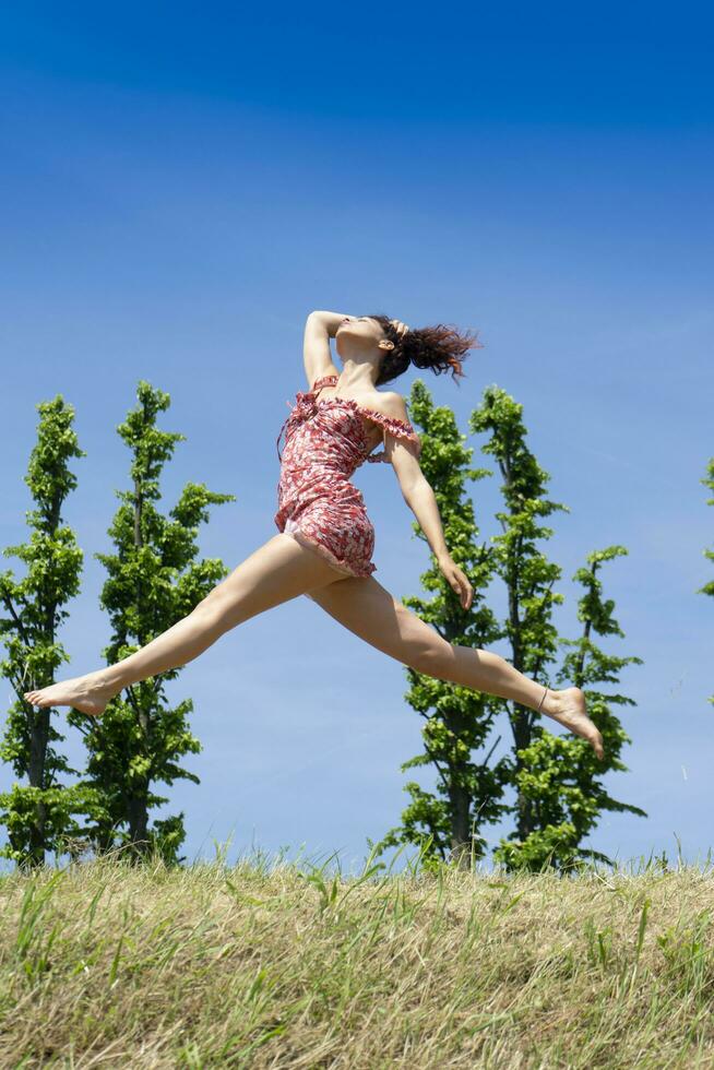
[[[376,387],[396,379],[410,365],[430,368],[438,376],[451,371],[453,379],[463,377],[462,364],[466,352],[483,348],[483,343],[468,332],[460,332],[443,323],[409,328],[402,332],[397,330],[396,322],[382,312],[350,316],[340,324],[335,335],[338,352],[341,335],[348,335],[350,342],[357,343],[360,348],[376,346],[379,349],[381,357]]]

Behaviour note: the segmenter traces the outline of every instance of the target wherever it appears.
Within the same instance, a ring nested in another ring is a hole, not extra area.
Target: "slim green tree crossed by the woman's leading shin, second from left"
[[[197,560],[195,539],[199,525],[209,519],[207,507],[235,501],[235,496],[189,483],[164,516],[155,506],[159,477],[175,443],[186,437],[156,427],[157,414],[170,405],[168,394],[142,380],[138,399],[117,428],[131,450],[132,488],[116,491],[122,503],[108,532],[116,552],[95,555],[109,574],[100,595],[112,627],[111,642],[103,651],[107,664],[133,654],[187,616],[228,574],[218,558]],[[121,844],[136,860],[153,849],[168,864],[182,860],[183,813],[150,827],[151,808],[167,801],[153,785],[179,778],[199,783],[179,764],[185,754],[201,750],[188,724],[193,703],[185,699],[170,708],[164,692],[165,682],[180,671],[171,669],[120,691],[86,737],[88,783],[100,800],[86,832],[98,851]]]

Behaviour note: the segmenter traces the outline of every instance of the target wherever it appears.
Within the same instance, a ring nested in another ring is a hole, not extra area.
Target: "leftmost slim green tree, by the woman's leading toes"
[[[57,750],[64,740],[51,723],[52,710],[34,709],[23,693],[55,682],[56,669],[69,662],[58,632],[69,616],[62,609],[80,590],[83,554],[72,530],[62,521],[62,509],[76,478],[69,468],[72,457],[86,454],[73,430],[74,409],[61,395],[37,406],[37,442],[32,450],[25,483],[36,508],[26,512],[29,540],[3,550],[17,557],[25,576],[14,579],[12,569],[0,574],[0,618],[7,658],[0,673],[16,698],[8,711],[0,757],[17,777],[11,790],[0,795],[0,821],[7,827],[3,857],[21,867],[41,866],[48,851],[66,849],[80,829],[72,815],[87,805],[84,787],[59,783],[63,774],[76,774]]]

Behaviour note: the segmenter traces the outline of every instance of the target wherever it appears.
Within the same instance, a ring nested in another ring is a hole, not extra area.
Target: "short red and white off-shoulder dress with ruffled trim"
[[[296,394],[276,441],[281,477],[274,519],[279,532],[316,550],[340,572],[368,576],[377,571],[371,560],[374,528],[361,491],[349,479],[365,461],[388,460],[384,450],[369,453],[369,429],[377,424],[384,436],[413,442],[417,456],[421,440],[408,421],[365,408],[350,397],[318,401],[322,387],[334,387],[337,379],[323,376],[312,390]]]

